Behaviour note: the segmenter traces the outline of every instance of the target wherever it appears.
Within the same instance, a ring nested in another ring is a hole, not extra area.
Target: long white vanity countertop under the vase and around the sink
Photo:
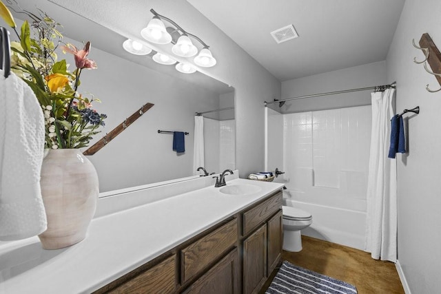
[[[85,240],[44,250],[37,237],[0,246],[0,293],[90,293],[229,218],[283,184],[235,179],[257,193],[206,187],[94,218]],[[124,197],[124,196],[121,196]]]

